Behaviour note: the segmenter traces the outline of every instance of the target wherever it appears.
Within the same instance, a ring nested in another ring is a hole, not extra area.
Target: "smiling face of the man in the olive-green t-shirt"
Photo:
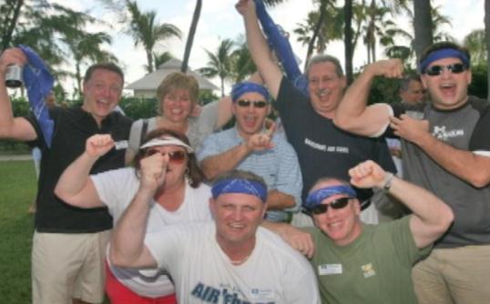
[[[314,191],[321,187],[337,186],[339,183],[334,181],[322,182],[311,189]],[[322,204],[330,204],[337,198],[349,198],[347,194],[338,194],[330,198],[325,198]],[[357,198],[352,198],[346,207],[334,209],[329,207],[326,212],[313,215],[315,226],[320,228],[332,241],[339,245],[345,246],[351,244],[362,233],[362,224],[359,216],[361,208]]]

